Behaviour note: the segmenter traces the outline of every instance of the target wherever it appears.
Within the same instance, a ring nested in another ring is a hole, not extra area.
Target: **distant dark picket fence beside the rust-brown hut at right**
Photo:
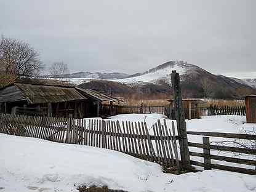
[[[199,108],[201,116],[207,115],[246,115],[246,106],[217,106]]]

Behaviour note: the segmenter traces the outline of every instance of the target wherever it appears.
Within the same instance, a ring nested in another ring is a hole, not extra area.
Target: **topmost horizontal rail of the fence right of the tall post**
[[[222,132],[199,132],[199,131],[188,131],[187,134],[203,135],[203,136],[210,136],[210,137],[241,138],[241,139],[247,139],[247,140],[256,140],[256,135],[249,135],[249,134],[228,134],[228,133],[222,133]]]

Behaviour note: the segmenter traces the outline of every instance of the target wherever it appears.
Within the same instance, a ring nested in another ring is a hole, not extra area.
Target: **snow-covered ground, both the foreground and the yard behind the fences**
[[[157,119],[163,118],[159,114],[126,114],[110,120],[145,121],[151,129]],[[188,130],[211,132],[239,133],[256,127],[245,124],[244,116],[207,116],[186,122]],[[194,135],[189,135],[188,140],[202,142],[200,136]],[[107,185],[130,192],[246,192],[256,191],[256,176],[221,170],[164,174],[158,164],[118,151],[0,134],[0,192],[77,191],[79,185]]]

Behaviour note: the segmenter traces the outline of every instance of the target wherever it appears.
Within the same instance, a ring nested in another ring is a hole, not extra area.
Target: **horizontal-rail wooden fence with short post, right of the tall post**
[[[188,135],[202,135],[202,136],[204,135],[204,136],[209,136],[209,137],[238,138],[241,140],[256,140],[256,135],[249,135],[249,134],[226,134],[226,133],[220,133],[220,132],[194,132],[194,131],[189,131],[189,132],[187,132],[187,134]],[[242,174],[256,175],[256,170],[255,170],[256,167],[255,167],[255,169],[247,169],[247,168],[224,166],[224,165],[220,165],[220,164],[212,164],[211,163],[211,159],[214,159],[214,160],[218,160],[218,161],[226,161],[226,162],[232,162],[232,163],[236,163],[236,164],[256,166],[255,160],[233,158],[233,157],[228,157],[228,156],[220,156],[220,155],[210,154],[211,150],[229,151],[229,152],[239,153],[239,154],[240,153],[241,154],[249,154],[249,155],[255,156],[255,158],[256,158],[256,150],[254,148],[240,148],[240,147],[233,147],[233,146],[211,145],[209,137],[202,137],[202,143],[188,142],[188,146],[203,149],[203,153],[196,153],[196,152],[190,151],[191,156],[197,156],[197,157],[204,158],[204,162],[191,160],[191,164],[193,164],[195,166],[204,167],[205,170],[220,169],[220,170],[228,170],[231,172],[239,172]]]

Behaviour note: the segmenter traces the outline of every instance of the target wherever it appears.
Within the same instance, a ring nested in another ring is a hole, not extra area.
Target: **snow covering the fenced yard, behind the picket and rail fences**
[[[119,114],[117,116],[112,116],[112,120],[119,121],[145,121],[148,127],[148,130],[151,135],[153,135],[153,124],[161,120],[163,124],[163,119],[167,117],[162,114]],[[174,121],[175,122],[175,121]],[[172,120],[166,119],[167,127],[171,127]],[[186,126],[188,131],[202,131],[202,132],[226,132],[233,134],[245,134],[245,130],[249,134],[255,134],[256,124],[246,124],[246,116],[203,116],[202,119],[191,119],[186,120]],[[177,127],[175,123],[175,130],[177,134]],[[214,142],[223,142],[223,141],[233,141],[234,139],[229,138],[220,138],[220,137],[210,137],[210,142],[212,144],[220,145],[219,143]],[[188,142],[202,143],[202,136],[199,135],[188,135]],[[178,143],[177,143],[178,144]],[[227,146],[235,146],[234,143],[225,143]],[[190,147],[190,151],[202,153],[201,148]],[[218,154],[222,156],[238,157],[243,159],[256,159],[255,156],[250,156],[248,154],[237,154],[226,151],[215,151],[211,150],[211,154]],[[191,156],[191,160],[203,162],[203,158]],[[243,167],[247,169],[255,169],[255,166],[248,166],[242,164],[234,164],[226,161],[215,161],[212,160],[213,164],[223,164],[226,166],[236,166]],[[203,169],[202,167],[197,167],[197,169]]]

